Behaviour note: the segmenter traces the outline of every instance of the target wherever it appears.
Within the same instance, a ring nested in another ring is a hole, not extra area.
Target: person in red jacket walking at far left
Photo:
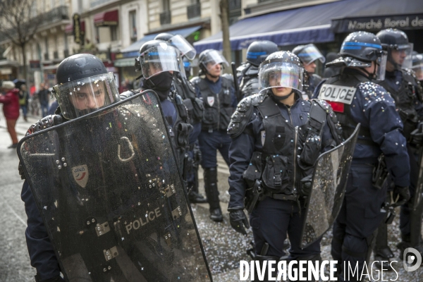
[[[19,90],[15,88],[15,83],[4,81],[1,84],[2,92],[0,95],[0,103],[3,103],[3,113],[6,118],[7,131],[11,135],[12,145],[8,148],[18,147],[18,135],[16,135],[15,125],[19,117]]]

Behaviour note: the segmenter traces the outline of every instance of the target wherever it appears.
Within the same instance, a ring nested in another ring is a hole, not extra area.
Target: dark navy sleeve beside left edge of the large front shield
[[[41,281],[59,276],[59,262],[57,261],[41,214],[39,214],[37,209],[30,185],[28,185],[26,180],[23,183],[20,197],[25,202],[25,212],[27,214],[25,237],[31,265],[37,269],[37,274]]]

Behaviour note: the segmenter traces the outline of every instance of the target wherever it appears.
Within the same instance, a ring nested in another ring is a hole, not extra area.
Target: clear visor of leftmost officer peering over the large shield
[[[68,119],[85,116],[120,101],[114,73],[55,85],[53,90],[63,116]]]

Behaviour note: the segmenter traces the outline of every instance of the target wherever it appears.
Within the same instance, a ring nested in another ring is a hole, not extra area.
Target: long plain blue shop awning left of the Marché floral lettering
[[[403,6],[397,11],[408,11],[409,9],[405,8],[408,2],[414,2],[411,6],[415,8],[419,5],[419,1],[415,0],[341,0],[244,18],[229,27],[231,49],[246,49],[257,40],[270,40],[279,46],[332,42],[334,39],[332,18],[345,18],[362,13],[367,15],[385,13],[391,10],[387,7],[391,2],[396,2],[395,6]],[[223,49],[222,32],[195,42],[194,47],[197,52],[205,49]]]

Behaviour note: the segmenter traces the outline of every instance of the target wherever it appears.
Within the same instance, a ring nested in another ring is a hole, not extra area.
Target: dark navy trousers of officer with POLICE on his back
[[[345,198],[341,211],[333,225],[331,254],[338,260],[338,268],[348,271],[348,263],[352,269],[358,264],[358,273],[369,255],[374,231],[384,219],[381,207],[386,196],[386,188],[376,189],[372,185],[373,166],[369,164],[352,164]],[[343,269],[343,264],[347,269]],[[345,273],[348,280],[348,274]],[[357,281],[359,277],[352,277]]]

